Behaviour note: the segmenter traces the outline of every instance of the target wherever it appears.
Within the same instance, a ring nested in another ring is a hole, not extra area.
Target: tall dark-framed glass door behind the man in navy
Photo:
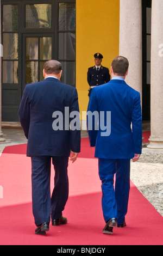
[[[2,121],[18,121],[26,84],[43,80],[46,60],[62,64],[61,82],[76,86],[76,1],[1,0]]]

